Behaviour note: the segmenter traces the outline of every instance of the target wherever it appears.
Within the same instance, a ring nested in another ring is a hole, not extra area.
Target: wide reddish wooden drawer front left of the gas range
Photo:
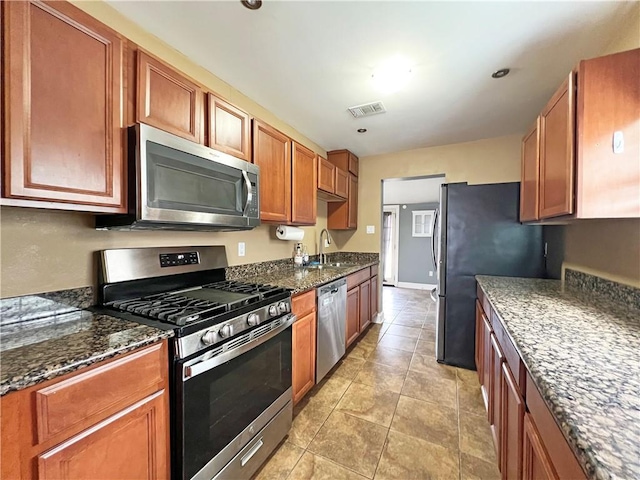
[[[38,443],[86,428],[162,387],[166,342],[152,345],[35,392]]]

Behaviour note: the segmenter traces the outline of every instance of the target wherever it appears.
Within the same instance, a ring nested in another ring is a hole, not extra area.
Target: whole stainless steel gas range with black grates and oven
[[[172,329],[172,476],[248,479],[292,422],[291,294],[226,281],[224,247],[100,252],[110,315]]]

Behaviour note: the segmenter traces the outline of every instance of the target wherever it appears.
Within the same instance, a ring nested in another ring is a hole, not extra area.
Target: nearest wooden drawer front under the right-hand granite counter
[[[578,463],[573,450],[569,447],[560,427],[556,423],[542,396],[527,374],[526,404],[527,410],[540,432],[540,438],[551,457],[551,462],[559,478],[585,479],[586,476]]]

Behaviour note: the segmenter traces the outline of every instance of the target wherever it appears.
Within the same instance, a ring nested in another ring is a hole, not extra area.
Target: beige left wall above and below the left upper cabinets
[[[109,5],[103,2],[73,3],[251,115],[317,153],[325,154],[319,145]],[[304,243],[312,254],[317,252],[317,238],[320,230],[326,227],[326,217],[326,203],[319,201],[316,226],[305,228]],[[94,219],[89,214],[16,207],[0,208],[0,222],[0,297],[94,285],[94,252],[105,248],[225,245],[231,265],[286,258],[293,249],[293,242],[275,238],[272,226],[228,233],[102,232],[93,228]],[[245,257],[237,256],[238,242],[246,243]],[[328,251],[335,249],[332,245]]]

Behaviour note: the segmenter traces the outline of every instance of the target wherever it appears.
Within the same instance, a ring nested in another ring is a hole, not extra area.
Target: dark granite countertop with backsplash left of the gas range
[[[60,298],[30,295],[0,300],[0,395],[173,335],[80,309],[78,296],[71,301]],[[83,306],[85,301],[86,295]]]

